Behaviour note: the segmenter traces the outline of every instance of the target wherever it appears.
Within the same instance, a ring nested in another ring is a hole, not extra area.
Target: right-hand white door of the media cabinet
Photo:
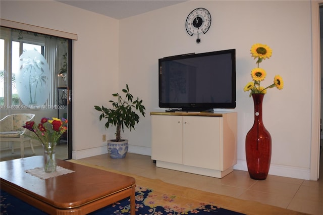
[[[184,165],[220,170],[222,117],[183,117]]]

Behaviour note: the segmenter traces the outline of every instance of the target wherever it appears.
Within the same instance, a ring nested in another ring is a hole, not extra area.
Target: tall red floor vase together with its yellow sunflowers
[[[250,178],[264,180],[267,178],[272,156],[272,137],[262,122],[262,100],[268,88],[277,87],[281,90],[284,81],[280,75],[274,77],[274,83],[267,86],[260,86],[260,82],[266,77],[266,71],[259,68],[259,64],[272,56],[273,50],[264,44],[256,43],[251,47],[251,55],[257,59],[257,68],[251,70],[252,81],[245,87],[244,91],[250,91],[254,103],[254,123],[246,135],[246,161]]]

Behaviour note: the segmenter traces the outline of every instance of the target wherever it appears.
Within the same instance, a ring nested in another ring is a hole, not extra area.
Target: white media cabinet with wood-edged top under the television
[[[151,112],[156,167],[222,178],[237,164],[237,113]]]

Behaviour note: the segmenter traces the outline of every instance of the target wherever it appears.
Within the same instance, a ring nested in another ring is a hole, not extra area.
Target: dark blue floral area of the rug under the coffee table
[[[165,204],[163,206],[157,205],[151,195],[152,190],[142,187],[137,187],[136,189],[136,214],[144,215],[178,215],[178,214],[218,214],[218,215],[238,215],[243,213],[234,212],[224,208],[217,207],[215,205],[203,204],[201,203],[199,207],[194,209],[174,207],[170,206],[171,202],[174,202],[176,196],[163,196],[163,201]],[[158,200],[159,201],[159,200]],[[26,202],[16,198],[15,196],[1,190],[1,215],[5,214],[47,214],[36,207],[33,207]],[[91,212],[92,215],[121,215],[130,214],[130,198],[125,198],[119,202],[112,205],[103,207],[99,210]]]

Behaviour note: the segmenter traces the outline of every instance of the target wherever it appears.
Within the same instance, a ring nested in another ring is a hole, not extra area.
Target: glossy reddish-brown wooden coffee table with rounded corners
[[[43,156],[0,162],[1,189],[49,214],[87,214],[130,197],[135,214],[135,179],[83,165],[57,160],[72,171],[40,179],[26,170],[42,167]]]

